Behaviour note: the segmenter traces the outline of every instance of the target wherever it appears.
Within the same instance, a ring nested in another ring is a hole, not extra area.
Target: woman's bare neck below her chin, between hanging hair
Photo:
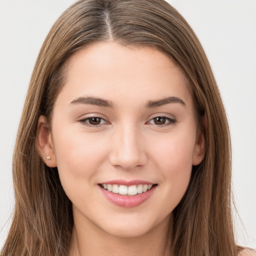
[[[170,255],[169,216],[150,231],[136,237],[118,237],[111,235],[89,220],[83,223],[74,219],[73,238],[70,256],[135,256]]]

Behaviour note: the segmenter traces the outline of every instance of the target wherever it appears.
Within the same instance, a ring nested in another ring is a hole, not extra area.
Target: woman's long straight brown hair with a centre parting
[[[72,206],[57,168],[40,158],[35,136],[40,115],[49,120],[64,84],[65,63],[96,41],[145,45],[165,52],[182,69],[204,117],[206,153],[192,167],[187,191],[173,211],[174,256],[237,255],[231,218],[230,137],[210,64],[184,18],[164,0],[80,0],[52,26],[32,73],[13,154],[15,208],[2,249],[6,255],[68,255]]]

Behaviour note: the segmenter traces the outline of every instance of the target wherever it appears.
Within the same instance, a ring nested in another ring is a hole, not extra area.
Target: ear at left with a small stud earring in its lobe
[[[56,167],[52,135],[47,118],[44,115],[41,115],[38,119],[35,145],[44,163],[49,167]]]

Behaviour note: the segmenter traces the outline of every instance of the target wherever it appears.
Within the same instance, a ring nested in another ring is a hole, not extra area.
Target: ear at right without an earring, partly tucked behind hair
[[[197,134],[196,134],[194,151],[193,151],[193,159],[192,159],[193,165],[198,165],[199,163],[201,163],[205,155],[206,148],[205,148],[205,136],[204,136],[203,130],[206,129],[206,124],[207,124],[207,117],[204,114],[197,128]]]

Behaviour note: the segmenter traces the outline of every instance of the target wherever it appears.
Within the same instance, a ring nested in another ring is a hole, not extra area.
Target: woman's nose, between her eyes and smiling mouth
[[[125,170],[145,165],[147,155],[143,145],[143,137],[139,129],[131,125],[123,125],[115,130],[112,136],[110,163]]]

